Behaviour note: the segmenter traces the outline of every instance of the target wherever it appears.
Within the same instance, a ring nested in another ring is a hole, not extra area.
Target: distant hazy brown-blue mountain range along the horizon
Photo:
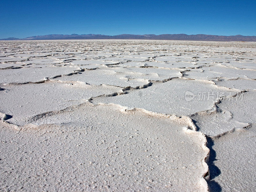
[[[132,35],[132,34],[122,34],[122,35],[100,35],[100,34],[72,34],[72,35],[42,35],[42,36],[31,36],[23,39],[9,37],[0,40],[64,40],[64,39],[148,39],[148,40],[190,40],[190,41],[254,41],[256,42],[256,36],[219,36],[219,35],[186,35],[186,34],[146,34],[146,35]]]

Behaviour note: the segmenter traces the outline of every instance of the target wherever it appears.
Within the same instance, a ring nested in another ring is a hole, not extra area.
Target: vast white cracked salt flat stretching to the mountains
[[[254,191],[255,42],[0,41],[1,191]]]

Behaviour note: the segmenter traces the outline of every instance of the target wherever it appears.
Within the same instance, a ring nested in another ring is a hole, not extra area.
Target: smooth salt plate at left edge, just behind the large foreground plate
[[[67,108],[90,97],[121,91],[120,87],[49,81],[42,84],[7,85],[0,94],[0,112],[13,117],[10,123],[23,125],[29,116]]]

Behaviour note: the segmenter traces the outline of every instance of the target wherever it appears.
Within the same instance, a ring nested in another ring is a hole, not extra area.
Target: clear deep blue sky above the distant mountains
[[[256,35],[256,0],[2,0],[0,38],[48,34]]]

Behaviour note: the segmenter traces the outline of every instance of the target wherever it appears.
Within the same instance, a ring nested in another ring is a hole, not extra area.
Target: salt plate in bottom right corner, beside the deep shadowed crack
[[[210,191],[254,191],[256,188],[255,171],[255,124],[248,129],[228,133],[212,141],[212,150],[216,155],[210,156],[209,164],[212,179]],[[217,167],[217,169],[216,169]],[[218,183],[218,186],[215,185]]]

